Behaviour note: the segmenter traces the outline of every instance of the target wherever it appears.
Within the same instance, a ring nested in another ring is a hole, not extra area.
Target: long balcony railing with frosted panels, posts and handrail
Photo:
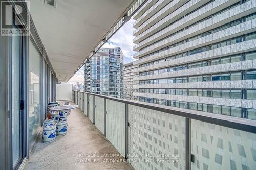
[[[82,91],[72,98],[135,169],[253,169],[256,163],[253,120]]]

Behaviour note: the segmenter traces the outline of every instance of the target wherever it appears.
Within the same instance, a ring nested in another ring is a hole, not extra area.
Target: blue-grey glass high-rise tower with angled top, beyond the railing
[[[100,49],[84,64],[85,91],[123,98],[121,48]]]

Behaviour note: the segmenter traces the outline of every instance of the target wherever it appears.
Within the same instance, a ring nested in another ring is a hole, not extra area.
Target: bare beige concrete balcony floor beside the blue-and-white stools
[[[79,108],[71,111],[67,122],[67,134],[51,143],[43,143],[40,132],[25,169],[133,169],[121,156],[108,157],[119,152]]]

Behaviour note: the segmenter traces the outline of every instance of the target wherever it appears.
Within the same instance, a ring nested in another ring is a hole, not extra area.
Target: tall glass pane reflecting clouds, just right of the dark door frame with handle
[[[33,148],[38,131],[40,129],[41,116],[41,56],[36,47],[29,41],[29,150]]]

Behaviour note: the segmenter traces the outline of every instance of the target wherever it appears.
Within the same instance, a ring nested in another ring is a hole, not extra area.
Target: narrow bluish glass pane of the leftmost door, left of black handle
[[[12,113],[12,166],[20,159],[20,36],[12,36],[11,58],[11,113]]]

